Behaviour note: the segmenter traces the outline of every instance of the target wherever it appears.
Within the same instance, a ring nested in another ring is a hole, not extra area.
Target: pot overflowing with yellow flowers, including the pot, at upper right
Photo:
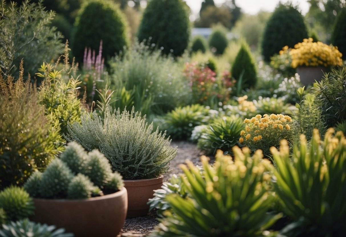
[[[292,62],[291,66],[297,68],[300,81],[304,85],[320,81],[324,73],[328,72],[328,67],[342,65],[342,53],[333,45],[326,45],[322,42],[313,42],[312,38],[303,39],[294,45],[294,48],[285,46],[279,54],[289,51]]]

